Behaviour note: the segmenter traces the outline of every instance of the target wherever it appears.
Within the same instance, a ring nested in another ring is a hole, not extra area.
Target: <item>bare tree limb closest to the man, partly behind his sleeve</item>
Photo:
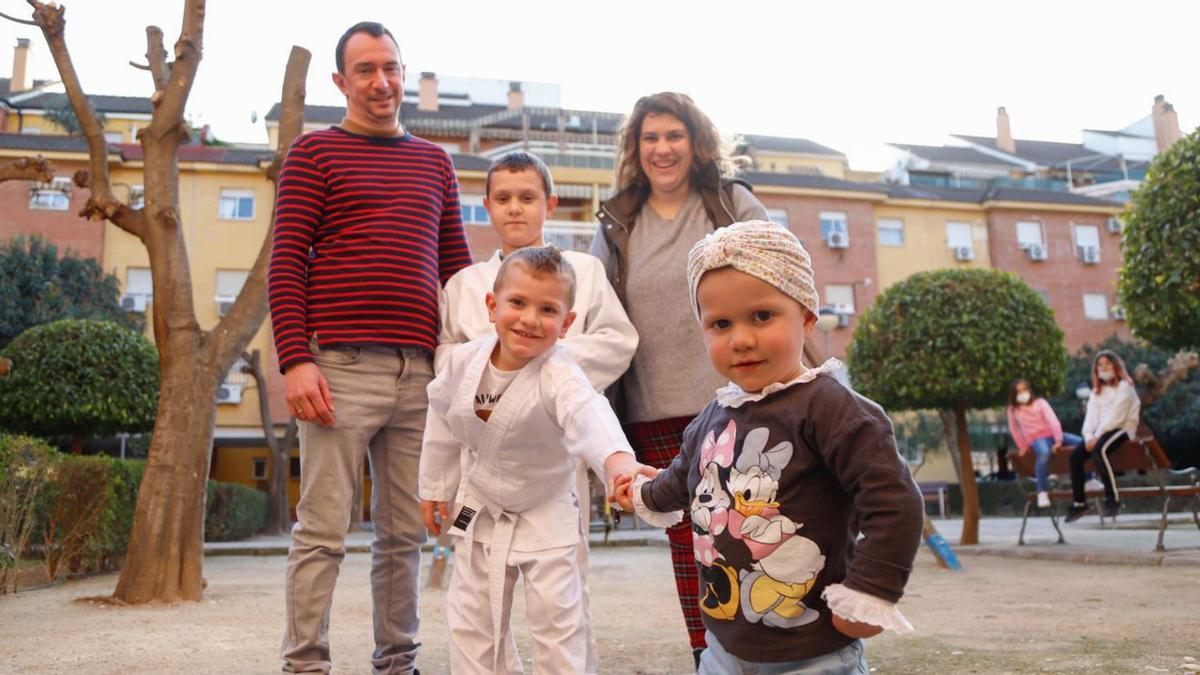
[[[278,167],[283,163],[292,142],[304,129],[305,79],[308,76],[308,62],[312,54],[302,47],[292,47],[288,66],[283,72],[283,91],[280,103],[280,137],[275,149],[275,160],[268,167],[266,174],[274,183],[278,178]],[[263,245],[258,250],[254,265],[250,269],[246,283],[242,285],[233,307],[212,329],[216,335],[217,363],[228,368],[236,358],[234,347],[245,345],[266,317],[266,265],[271,261],[271,240],[275,232],[275,214],[271,214],[271,227],[266,231]],[[238,347],[240,350],[240,347]],[[228,360],[226,360],[228,359]]]

